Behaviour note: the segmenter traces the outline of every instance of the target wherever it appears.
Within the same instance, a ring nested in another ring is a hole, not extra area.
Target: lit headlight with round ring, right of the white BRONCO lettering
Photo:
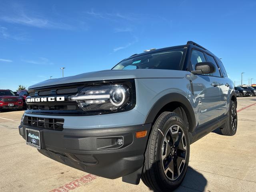
[[[69,100],[76,101],[86,112],[111,112],[130,110],[135,105],[135,86],[126,83],[112,83],[98,86],[87,86]]]

